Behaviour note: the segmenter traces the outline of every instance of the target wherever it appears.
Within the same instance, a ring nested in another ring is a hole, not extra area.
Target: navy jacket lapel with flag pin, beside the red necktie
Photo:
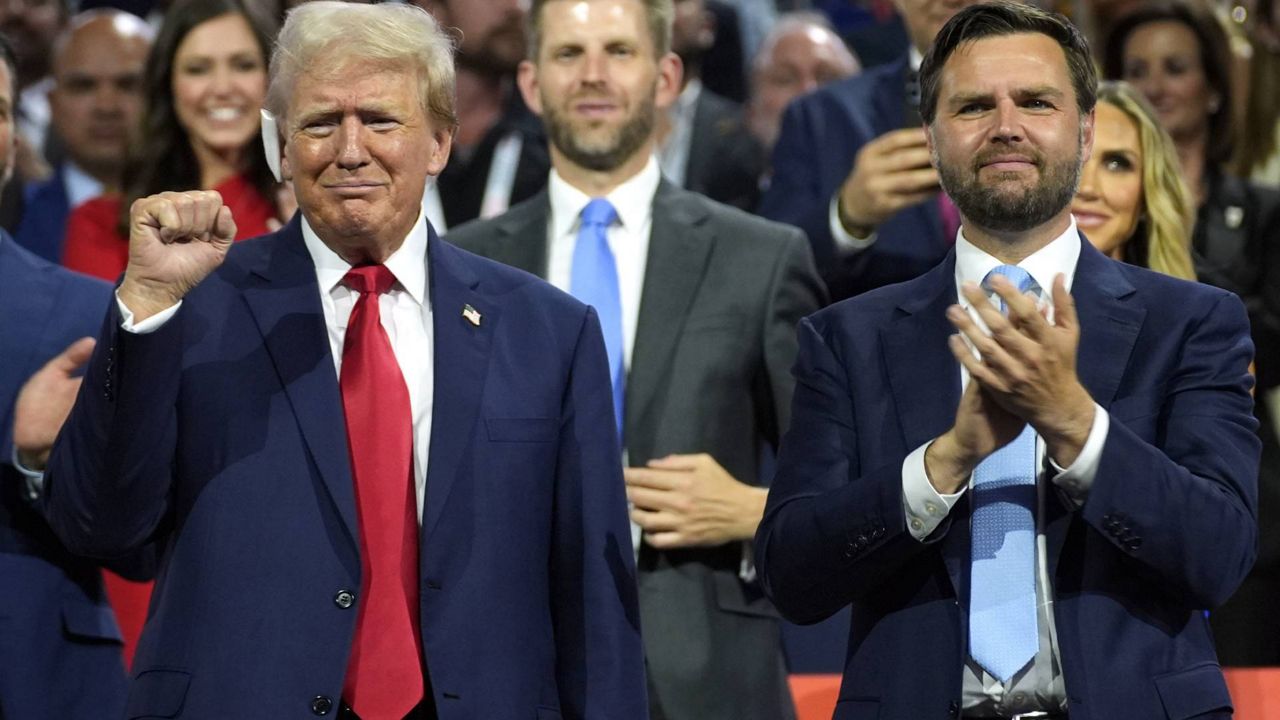
[[[545,219],[538,236],[547,236]],[[518,240],[521,236],[515,237]],[[462,251],[440,242],[434,229],[430,231],[426,259],[435,331],[435,387],[426,507],[422,512],[424,538],[430,537],[439,523],[457,478],[470,470],[465,465],[470,461],[466,451],[479,421],[489,347],[500,315],[497,302],[476,292],[480,279],[465,264]],[[462,314],[468,305],[480,314],[479,324]]]

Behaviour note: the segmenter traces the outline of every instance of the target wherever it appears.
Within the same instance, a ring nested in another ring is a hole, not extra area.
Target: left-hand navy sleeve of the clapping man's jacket
[[[755,562],[783,616],[815,623],[874,592],[928,546],[906,530],[905,456],[858,465],[856,398],[845,365],[808,318],[799,345],[791,429],[755,537]]]

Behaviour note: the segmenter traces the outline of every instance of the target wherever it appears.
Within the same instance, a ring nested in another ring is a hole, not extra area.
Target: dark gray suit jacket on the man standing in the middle
[[[451,242],[547,275],[545,191]],[[795,327],[826,300],[804,234],[663,181],[626,384],[632,465],[707,452],[764,484],[760,460],[791,411]],[[640,552],[650,707],[666,720],[794,717],[781,628],[742,546]]]

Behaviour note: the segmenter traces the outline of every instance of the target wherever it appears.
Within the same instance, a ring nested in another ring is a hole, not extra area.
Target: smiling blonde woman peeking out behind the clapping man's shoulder
[[[1172,138],[1126,82],[1098,86],[1093,155],[1071,204],[1076,225],[1103,254],[1196,279],[1190,228],[1196,206]]]

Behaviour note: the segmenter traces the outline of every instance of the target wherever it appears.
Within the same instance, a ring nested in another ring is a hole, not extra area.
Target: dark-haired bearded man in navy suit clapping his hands
[[[840,720],[1230,717],[1203,611],[1256,553],[1244,306],[1076,231],[1096,77],[1064,18],[968,8],[920,74],[963,228],[801,323],[765,592],[851,606]]]

